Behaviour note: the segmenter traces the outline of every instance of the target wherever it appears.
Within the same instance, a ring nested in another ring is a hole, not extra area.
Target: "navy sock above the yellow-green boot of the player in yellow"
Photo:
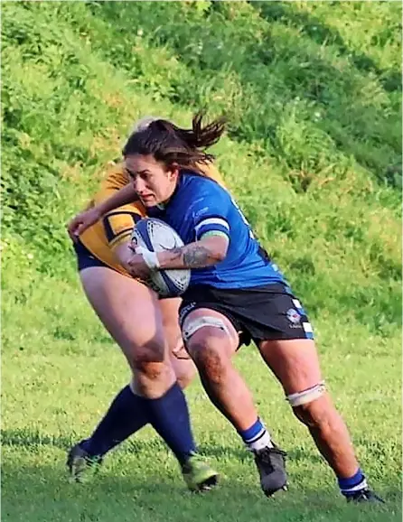
[[[189,455],[196,452],[196,445],[182,389],[175,382],[164,396],[145,400],[148,404],[150,423],[183,465]]]

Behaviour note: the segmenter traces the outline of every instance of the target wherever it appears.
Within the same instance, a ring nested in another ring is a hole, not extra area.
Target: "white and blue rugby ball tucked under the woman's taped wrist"
[[[146,248],[152,252],[173,250],[183,247],[183,240],[172,227],[155,218],[140,219],[132,232],[132,246]],[[191,271],[183,270],[155,270],[151,272],[146,284],[161,297],[177,297],[189,286]]]

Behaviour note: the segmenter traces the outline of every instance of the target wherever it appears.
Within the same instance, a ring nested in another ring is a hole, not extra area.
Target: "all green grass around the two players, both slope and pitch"
[[[401,520],[401,5],[4,2],[2,517],[7,522]],[[314,323],[371,486],[347,506],[253,347],[237,365],[290,487],[266,499],[198,382],[187,396],[220,488],[188,493],[150,428],[70,484],[66,451],[128,373],[80,290],[64,223],[134,118],[230,117],[220,170]]]

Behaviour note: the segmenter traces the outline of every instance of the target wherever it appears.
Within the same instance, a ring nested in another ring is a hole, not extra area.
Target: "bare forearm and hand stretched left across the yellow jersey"
[[[136,192],[132,183],[110,196],[108,200],[101,201],[98,205],[91,207],[89,210],[80,212],[77,216],[70,220],[67,225],[70,238],[76,241],[87,228],[91,227],[97,221],[108,214],[111,210],[118,209],[129,203],[134,203],[138,200]]]

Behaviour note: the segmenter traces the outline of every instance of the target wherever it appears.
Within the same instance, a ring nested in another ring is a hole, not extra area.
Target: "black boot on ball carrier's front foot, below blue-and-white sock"
[[[286,452],[275,445],[253,453],[260,475],[260,486],[265,495],[271,497],[279,489],[286,491]]]

